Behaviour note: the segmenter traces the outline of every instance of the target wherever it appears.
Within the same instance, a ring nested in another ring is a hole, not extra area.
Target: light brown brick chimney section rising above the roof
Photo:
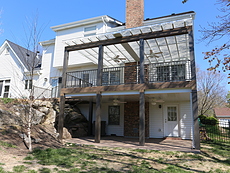
[[[126,0],[126,28],[142,26],[144,21],[144,0]]]

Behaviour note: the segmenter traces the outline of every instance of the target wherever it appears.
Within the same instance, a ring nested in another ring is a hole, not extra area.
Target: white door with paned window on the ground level
[[[165,109],[164,135],[166,137],[179,137],[178,107],[170,105],[166,106]]]

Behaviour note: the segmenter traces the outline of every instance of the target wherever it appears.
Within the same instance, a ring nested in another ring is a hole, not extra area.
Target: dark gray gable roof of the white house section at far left
[[[31,70],[31,64],[34,64],[35,68],[41,63],[41,58],[37,58],[36,54],[18,44],[15,44],[9,40],[6,40],[9,47],[14,51],[21,63],[26,67],[28,71]],[[36,57],[36,58],[34,58]],[[33,62],[35,61],[35,62]]]

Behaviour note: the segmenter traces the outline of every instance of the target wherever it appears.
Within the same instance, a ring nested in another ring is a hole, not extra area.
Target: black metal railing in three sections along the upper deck
[[[139,65],[103,68],[102,86],[138,84]],[[145,81],[172,82],[191,80],[190,61],[145,64]],[[97,69],[67,72],[66,87],[97,86]]]

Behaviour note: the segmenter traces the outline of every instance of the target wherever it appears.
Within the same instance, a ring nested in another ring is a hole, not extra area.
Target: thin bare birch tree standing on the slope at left
[[[44,26],[38,26],[38,17],[35,16],[33,20],[27,19],[27,28],[25,30],[25,50],[21,50],[23,57],[23,63],[26,66],[27,71],[24,72],[24,79],[26,81],[25,87],[27,88],[29,94],[25,98],[22,95],[20,102],[24,111],[22,115],[23,126],[26,127],[27,137],[28,137],[28,149],[32,151],[32,141],[31,141],[31,128],[36,122],[36,111],[34,110],[35,97],[35,86],[34,86],[34,76],[35,72],[41,67],[41,56],[39,40],[44,29]],[[21,48],[23,49],[23,48]],[[36,96],[39,96],[36,93]]]

